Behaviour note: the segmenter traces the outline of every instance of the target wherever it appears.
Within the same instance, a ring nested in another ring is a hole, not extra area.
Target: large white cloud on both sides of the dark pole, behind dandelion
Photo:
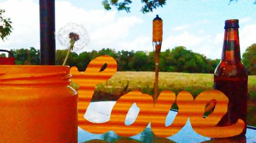
[[[0,41],[2,49],[40,47],[39,6],[32,0],[10,0],[0,3],[6,10],[6,16],[11,18],[14,28],[9,40]],[[70,2],[58,1],[55,4],[56,33],[69,22],[85,26],[90,34],[89,46],[85,50],[98,50],[109,46],[116,48],[117,41],[127,41],[134,25],[143,21],[136,16],[118,18],[117,11],[84,10],[75,7]],[[65,49],[56,38],[56,49]],[[79,52],[82,52],[79,51]]]

